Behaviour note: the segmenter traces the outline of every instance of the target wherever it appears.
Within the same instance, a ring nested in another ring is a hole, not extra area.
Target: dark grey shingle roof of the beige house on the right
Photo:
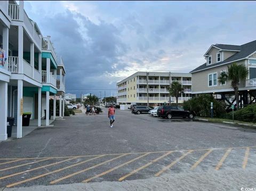
[[[214,45],[214,46],[216,46],[216,45]],[[222,62],[218,62],[218,63],[211,64],[211,65],[206,65],[206,63],[204,63],[204,64],[200,65],[199,67],[197,67],[196,69],[190,71],[190,73],[196,72],[198,70],[204,70],[204,69],[207,69],[207,68],[215,67],[215,66],[218,66],[218,65],[221,65],[221,64],[225,64],[227,62],[232,62],[232,61],[235,61],[235,60],[243,59],[244,57],[249,56],[250,54],[252,54],[253,52],[256,51],[256,40],[251,41],[250,43],[243,44],[241,46],[220,45],[220,44],[218,44],[217,46],[221,49],[222,48],[223,49],[229,49],[232,46],[233,49],[237,48],[236,50],[237,51],[239,50],[240,52],[235,53],[234,55],[228,57],[226,60],[224,60]],[[239,47],[239,49],[238,49],[238,47]]]

